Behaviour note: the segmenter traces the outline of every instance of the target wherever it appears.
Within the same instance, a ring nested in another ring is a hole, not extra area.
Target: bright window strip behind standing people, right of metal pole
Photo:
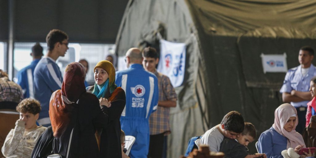
[[[0,63],[3,55],[1,55],[2,43],[0,42]],[[13,68],[14,68],[14,76],[16,77],[17,72],[27,65],[31,64],[33,58],[30,55],[32,51],[32,47],[35,43],[31,42],[16,42],[14,48],[14,60],[13,60]],[[46,43],[40,43],[43,47],[44,56],[47,53],[47,45]],[[86,81],[90,84],[94,84],[94,66],[100,61],[105,60],[108,54],[113,54],[115,50],[114,44],[79,44],[79,43],[69,43],[69,49],[67,50],[64,57],[59,57],[56,61],[57,65],[62,72],[62,76],[64,75],[64,70],[66,66],[71,62],[78,62],[80,59],[86,59],[89,63],[89,70],[86,74]],[[116,58],[114,56],[114,65]],[[0,65],[1,68],[1,65]]]

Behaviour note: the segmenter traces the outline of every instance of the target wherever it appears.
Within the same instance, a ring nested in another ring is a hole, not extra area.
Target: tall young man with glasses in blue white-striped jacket
[[[58,29],[51,30],[46,36],[48,52],[34,70],[34,93],[35,99],[39,100],[42,106],[38,123],[43,126],[50,126],[49,100],[52,93],[61,89],[63,78],[56,60],[59,56],[64,57],[68,48],[68,35]]]

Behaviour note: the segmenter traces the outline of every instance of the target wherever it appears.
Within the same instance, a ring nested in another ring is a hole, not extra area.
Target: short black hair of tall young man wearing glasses
[[[68,40],[68,35],[64,31],[58,29],[51,30],[46,36],[48,50],[52,51],[55,44],[57,42],[62,43],[63,40]]]

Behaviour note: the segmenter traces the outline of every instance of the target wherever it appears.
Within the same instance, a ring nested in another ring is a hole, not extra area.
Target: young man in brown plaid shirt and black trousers
[[[158,108],[150,115],[149,129],[149,153],[150,158],[161,158],[163,153],[164,137],[171,133],[169,125],[170,107],[177,105],[177,94],[169,80],[169,77],[157,72],[156,65],[159,62],[155,48],[147,47],[143,50],[143,67],[152,72],[158,79],[159,100]]]

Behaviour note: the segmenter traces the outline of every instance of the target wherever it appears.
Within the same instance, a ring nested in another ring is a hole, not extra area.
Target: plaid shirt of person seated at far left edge
[[[0,102],[12,101],[20,103],[23,99],[23,92],[20,85],[9,80],[8,77],[0,78]]]

